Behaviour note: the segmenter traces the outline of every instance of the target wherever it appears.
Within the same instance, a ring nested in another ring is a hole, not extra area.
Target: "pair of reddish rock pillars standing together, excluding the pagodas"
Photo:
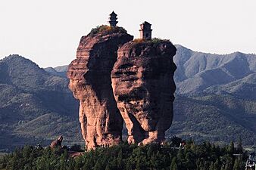
[[[126,32],[83,36],[69,65],[87,150],[119,144],[123,120],[130,144],[161,142],[170,128],[176,48],[169,41],[132,40]]]

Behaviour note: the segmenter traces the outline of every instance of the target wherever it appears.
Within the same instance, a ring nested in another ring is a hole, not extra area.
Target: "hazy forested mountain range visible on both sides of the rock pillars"
[[[176,134],[195,141],[256,141],[256,55],[195,52],[176,45]],[[0,60],[0,150],[59,134],[80,141],[78,103],[67,88],[67,66],[39,68],[12,55]]]

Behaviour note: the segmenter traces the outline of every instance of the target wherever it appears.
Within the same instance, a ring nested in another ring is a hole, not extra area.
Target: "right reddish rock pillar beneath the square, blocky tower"
[[[164,141],[173,119],[175,54],[166,40],[128,42],[118,50],[111,80],[128,143]]]

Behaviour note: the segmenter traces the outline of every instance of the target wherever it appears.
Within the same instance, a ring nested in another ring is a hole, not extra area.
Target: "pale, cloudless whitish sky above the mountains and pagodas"
[[[40,67],[69,64],[81,36],[108,24],[139,38],[139,24],[152,36],[193,51],[256,54],[255,0],[0,0],[0,59],[20,54]]]

